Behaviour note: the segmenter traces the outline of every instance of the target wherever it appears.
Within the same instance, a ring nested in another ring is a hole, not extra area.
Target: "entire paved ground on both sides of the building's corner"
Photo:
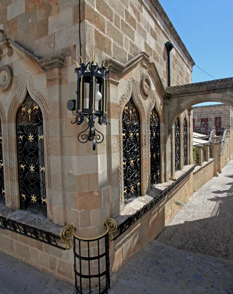
[[[159,235],[173,247],[157,240],[144,246],[119,270],[110,294],[233,294],[232,179],[233,161]],[[0,253],[0,294],[72,293],[73,285]]]

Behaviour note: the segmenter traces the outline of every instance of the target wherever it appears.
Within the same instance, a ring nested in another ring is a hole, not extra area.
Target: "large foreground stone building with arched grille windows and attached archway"
[[[193,164],[191,106],[231,104],[233,80],[191,84],[194,61],[158,0],[0,0],[0,29],[0,250],[107,293],[109,269],[230,160],[229,130]],[[96,133],[72,124],[84,112],[102,115]]]

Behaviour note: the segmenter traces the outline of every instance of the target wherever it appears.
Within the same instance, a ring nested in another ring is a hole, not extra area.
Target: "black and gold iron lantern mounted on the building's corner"
[[[98,131],[95,127],[95,120],[98,118],[100,125],[107,123],[107,73],[110,64],[105,67],[100,67],[95,62],[94,52],[92,53],[92,61],[84,64],[81,56],[81,64],[75,63],[78,67],[75,69],[77,73],[77,89],[76,100],[69,100],[67,102],[67,108],[72,111],[76,116],[74,122],[78,125],[83,123],[85,118],[87,119],[87,128],[78,134],[78,141],[80,143],[86,143],[87,141],[93,142],[93,150],[96,149],[96,143],[102,143],[104,141],[104,135]],[[84,93],[86,89],[86,98]],[[88,90],[89,89],[89,90]],[[89,93],[87,93],[89,92]],[[85,108],[85,103],[86,107]]]

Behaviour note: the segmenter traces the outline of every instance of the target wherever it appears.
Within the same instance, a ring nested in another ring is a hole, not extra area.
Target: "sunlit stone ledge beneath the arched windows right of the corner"
[[[193,168],[193,165],[187,165],[181,171],[176,172],[177,180],[185,172],[188,172],[191,168]],[[156,198],[156,196],[159,195],[159,193],[163,192],[166,188],[171,186],[173,183],[174,183],[174,181],[172,181],[172,180],[168,180],[167,182],[160,183],[160,184],[156,185],[156,188],[152,188],[151,192],[149,192],[148,195],[140,196],[140,197],[136,198],[135,200],[133,200],[132,202],[130,202],[129,204],[127,204],[125,206],[124,210],[122,210],[121,214],[115,218],[115,221],[117,222],[118,227],[124,221],[126,221],[131,215],[135,214],[138,210],[142,209],[144,205],[148,204],[151,200],[154,200]],[[176,189],[176,187],[175,187],[175,189]],[[161,203],[161,202],[159,202],[159,203]]]

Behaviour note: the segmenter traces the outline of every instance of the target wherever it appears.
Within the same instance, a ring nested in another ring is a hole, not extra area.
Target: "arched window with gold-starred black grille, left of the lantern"
[[[16,118],[21,209],[47,215],[43,117],[27,93]]]

